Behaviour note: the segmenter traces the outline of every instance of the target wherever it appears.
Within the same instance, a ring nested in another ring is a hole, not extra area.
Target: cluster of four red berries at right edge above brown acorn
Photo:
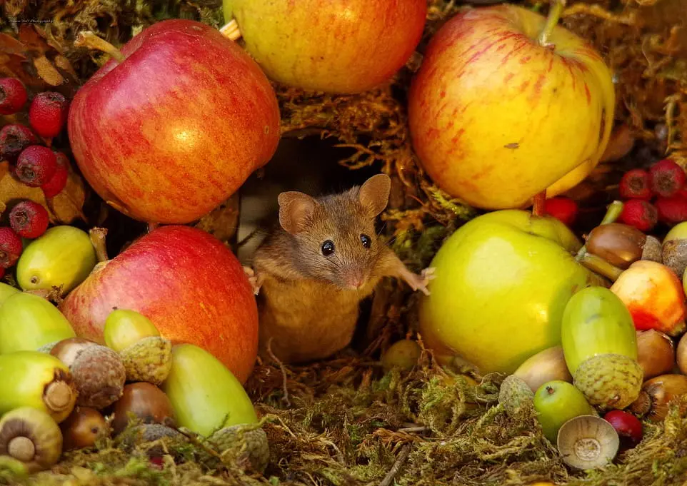
[[[687,221],[686,179],[683,168],[670,158],[654,163],[648,171],[627,171],[619,188],[626,200],[620,221],[645,233],[658,222],[672,226]]]

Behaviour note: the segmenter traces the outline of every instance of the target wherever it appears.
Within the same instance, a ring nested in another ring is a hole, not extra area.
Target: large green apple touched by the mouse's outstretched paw
[[[578,263],[576,236],[550,216],[503,210],[458,228],[433,258],[420,332],[440,362],[458,355],[482,373],[513,373],[561,344],[563,309],[606,280]]]

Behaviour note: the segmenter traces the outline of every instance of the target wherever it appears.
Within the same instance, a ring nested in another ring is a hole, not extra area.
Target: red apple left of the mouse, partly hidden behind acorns
[[[241,383],[258,350],[256,300],[239,260],[221,241],[189,226],[161,226],[99,263],[60,309],[76,335],[105,344],[112,310],[149,318],[172,343],[190,343],[226,365]]]

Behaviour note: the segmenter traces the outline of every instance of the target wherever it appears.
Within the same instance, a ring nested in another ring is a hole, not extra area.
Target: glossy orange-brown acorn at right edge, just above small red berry
[[[687,376],[672,373],[659,375],[642,385],[641,393],[628,410],[652,422],[660,422],[668,415],[668,403],[686,393]],[[687,407],[683,405],[681,408],[681,412],[685,412]]]

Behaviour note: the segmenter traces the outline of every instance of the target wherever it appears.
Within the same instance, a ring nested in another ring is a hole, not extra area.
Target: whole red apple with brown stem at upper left
[[[274,90],[218,30],[161,21],[121,54],[79,89],[68,122],[76,163],[114,208],[141,221],[189,223],[274,155]]]

